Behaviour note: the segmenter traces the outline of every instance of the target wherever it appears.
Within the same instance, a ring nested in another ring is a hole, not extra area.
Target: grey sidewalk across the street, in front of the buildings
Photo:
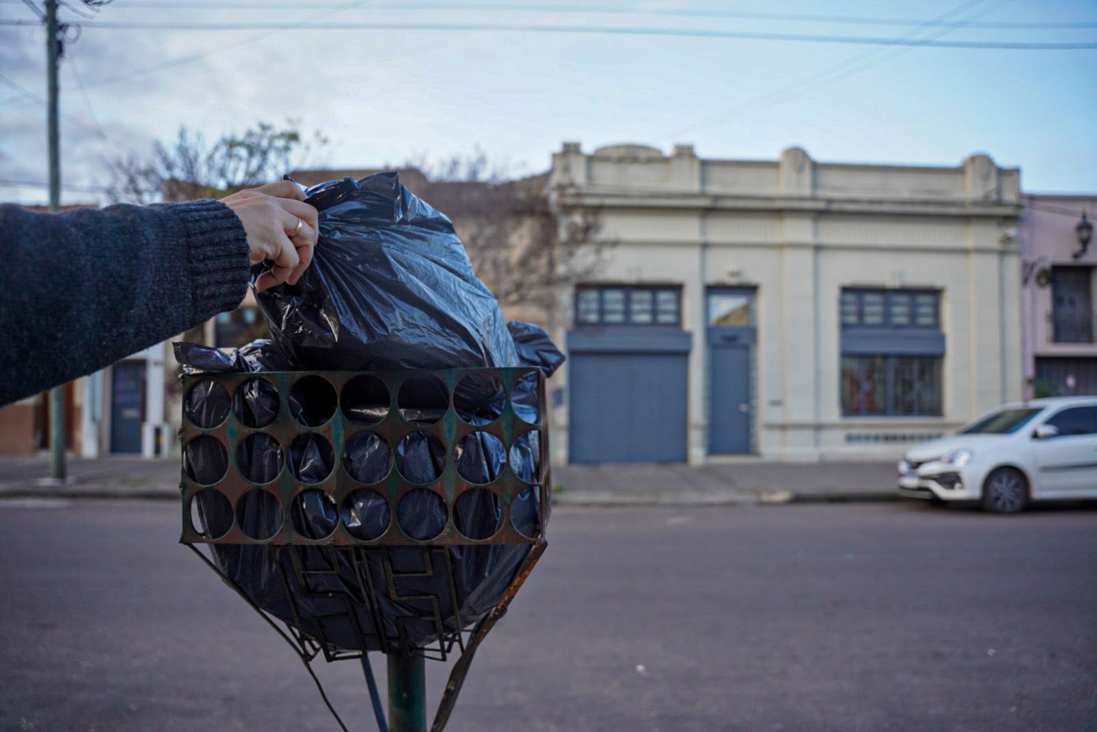
[[[48,479],[39,456],[0,456],[3,497],[179,497],[178,458],[70,458],[68,479]],[[734,505],[891,501],[894,462],[565,466],[552,471],[557,505]]]

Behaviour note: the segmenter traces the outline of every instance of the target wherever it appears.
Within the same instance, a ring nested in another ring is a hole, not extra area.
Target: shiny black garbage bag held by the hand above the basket
[[[256,295],[303,369],[507,366],[516,361],[495,296],[450,219],[396,173],[309,188],[319,242],[296,285]]]

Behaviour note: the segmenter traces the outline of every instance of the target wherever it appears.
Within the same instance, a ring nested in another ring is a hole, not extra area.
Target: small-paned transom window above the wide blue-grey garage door
[[[681,288],[584,286],[575,290],[576,325],[681,325]]]

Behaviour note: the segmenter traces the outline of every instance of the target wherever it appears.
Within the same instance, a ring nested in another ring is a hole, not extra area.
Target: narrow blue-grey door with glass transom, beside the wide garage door
[[[753,453],[754,290],[708,291],[709,453]]]

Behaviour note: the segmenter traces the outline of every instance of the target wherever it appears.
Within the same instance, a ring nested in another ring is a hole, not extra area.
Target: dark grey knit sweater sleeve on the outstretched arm
[[[0,404],[124,358],[240,304],[244,225],[193,201],[35,214],[0,206]]]

